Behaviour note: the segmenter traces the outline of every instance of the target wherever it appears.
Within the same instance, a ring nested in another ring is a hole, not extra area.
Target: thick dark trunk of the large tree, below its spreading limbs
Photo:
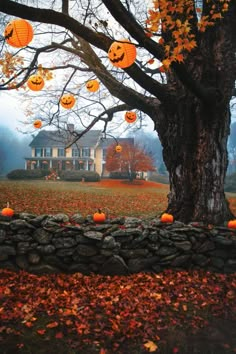
[[[232,218],[224,194],[230,112],[186,94],[174,110],[162,107],[157,127],[170,175],[167,211],[183,222],[222,224]]]

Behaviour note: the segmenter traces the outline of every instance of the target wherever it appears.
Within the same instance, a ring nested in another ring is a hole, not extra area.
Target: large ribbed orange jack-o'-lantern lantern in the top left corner
[[[33,27],[26,20],[13,20],[6,26],[4,37],[6,42],[12,47],[25,47],[33,39]]]

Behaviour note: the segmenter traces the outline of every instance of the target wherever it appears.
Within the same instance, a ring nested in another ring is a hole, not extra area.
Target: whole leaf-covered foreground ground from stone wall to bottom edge
[[[235,296],[235,275],[203,271],[111,277],[2,270],[0,350],[235,353]]]

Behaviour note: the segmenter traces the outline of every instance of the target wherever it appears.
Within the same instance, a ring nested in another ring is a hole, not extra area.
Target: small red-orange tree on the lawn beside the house
[[[129,180],[133,181],[137,172],[154,171],[155,167],[151,157],[141,148],[123,143],[121,152],[116,152],[116,144],[108,147],[106,169],[109,172],[125,173]]]

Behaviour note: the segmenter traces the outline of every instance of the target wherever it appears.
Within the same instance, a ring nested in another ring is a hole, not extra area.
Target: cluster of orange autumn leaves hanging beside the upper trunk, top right
[[[188,52],[197,46],[196,33],[205,32],[222,19],[230,1],[209,0],[203,9],[196,7],[194,0],[153,0],[147,30],[149,36],[161,34],[159,43],[165,50],[162,63],[166,69],[174,61],[184,61]]]

